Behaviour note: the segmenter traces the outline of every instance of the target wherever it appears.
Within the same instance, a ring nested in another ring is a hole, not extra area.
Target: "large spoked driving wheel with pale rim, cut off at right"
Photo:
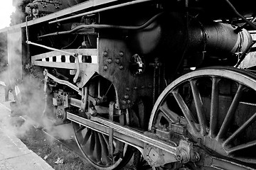
[[[201,159],[188,162],[187,169],[222,169],[229,161],[255,168],[256,152],[251,152],[256,149],[255,120],[255,74],[213,67],[169,84],[155,103],[149,130],[177,144],[179,140],[193,142]],[[213,157],[223,164],[213,164]]]

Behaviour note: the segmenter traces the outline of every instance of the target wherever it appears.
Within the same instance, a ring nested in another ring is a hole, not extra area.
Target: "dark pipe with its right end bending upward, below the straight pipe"
[[[90,25],[82,25],[78,26],[76,28],[73,28],[72,30],[66,30],[62,32],[56,32],[56,33],[49,33],[46,35],[38,36],[38,38],[44,38],[48,36],[53,35],[63,35],[63,34],[69,34],[74,33],[75,31],[81,30],[81,29],[91,29],[91,28],[97,28],[97,29],[119,29],[119,30],[142,30],[149,26],[151,23],[153,23],[156,18],[159,18],[164,12],[158,13],[152,18],[149,19],[149,21],[146,21],[146,23],[143,23],[141,26],[115,26],[115,25],[107,25],[107,24],[90,24]]]

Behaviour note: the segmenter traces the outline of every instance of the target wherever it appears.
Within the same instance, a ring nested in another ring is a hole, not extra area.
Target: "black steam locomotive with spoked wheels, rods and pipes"
[[[71,123],[97,169],[135,153],[150,169],[256,169],[252,3],[14,1],[0,35],[16,103],[41,81],[40,118]]]

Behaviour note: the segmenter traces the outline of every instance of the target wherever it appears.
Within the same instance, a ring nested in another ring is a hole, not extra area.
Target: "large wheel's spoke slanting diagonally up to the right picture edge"
[[[238,130],[235,130],[235,132],[230,137],[228,137],[227,140],[225,140],[223,145],[228,145],[228,143],[235,140],[235,138],[238,137],[238,135],[240,135],[242,132],[244,132],[250,125],[252,125],[252,123],[254,123],[255,120],[256,120],[256,113],[254,113],[252,117],[250,117],[240,128],[238,128]]]

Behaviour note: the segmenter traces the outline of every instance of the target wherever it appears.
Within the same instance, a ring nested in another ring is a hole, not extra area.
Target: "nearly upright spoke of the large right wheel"
[[[209,136],[213,137],[216,134],[218,125],[218,81],[216,77],[213,77],[211,101],[210,101],[210,131]]]

